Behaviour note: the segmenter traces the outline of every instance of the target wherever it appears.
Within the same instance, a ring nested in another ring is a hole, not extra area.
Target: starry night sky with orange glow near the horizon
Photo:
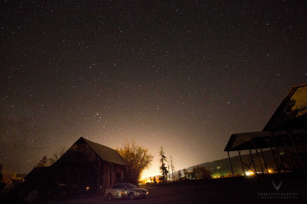
[[[227,158],[307,83],[305,1],[1,1],[0,163],[80,136],[135,138],[177,169]],[[231,156],[237,155],[235,152]]]

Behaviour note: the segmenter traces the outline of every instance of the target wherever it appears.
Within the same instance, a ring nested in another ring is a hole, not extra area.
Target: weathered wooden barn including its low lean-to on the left
[[[55,194],[99,193],[123,182],[127,165],[116,150],[80,137],[53,165],[34,168],[25,184]]]

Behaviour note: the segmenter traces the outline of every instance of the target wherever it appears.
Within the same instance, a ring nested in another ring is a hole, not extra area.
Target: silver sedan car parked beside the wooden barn
[[[134,198],[148,195],[148,191],[145,188],[139,188],[133,184],[115,184],[107,188],[104,191],[104,195],[107,196],[108,200],[112,200],[113,198],[129,198],[130,200],[134,200]]]

